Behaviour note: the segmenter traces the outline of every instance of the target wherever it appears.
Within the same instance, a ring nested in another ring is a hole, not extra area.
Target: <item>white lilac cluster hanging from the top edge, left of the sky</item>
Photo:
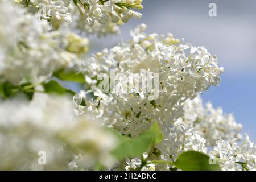
[[[48,20],[54,28],[72,23],[80,31],[100,36],[117,34],[117,23],[141,18],[141,14],[132,9],[142,9],[142,0],[30,0],[27,4],[17,1],[40,19]]]

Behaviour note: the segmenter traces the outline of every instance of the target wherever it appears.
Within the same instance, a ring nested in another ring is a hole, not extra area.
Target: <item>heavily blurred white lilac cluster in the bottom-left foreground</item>
[[[75,118],[67,97],[38,94],[29,103],[1,102],[0,115],[0,169],[90,169],[114,163],[109,151],[117,139],[89,115]],[[46,165],[38,163],[40,151]]]

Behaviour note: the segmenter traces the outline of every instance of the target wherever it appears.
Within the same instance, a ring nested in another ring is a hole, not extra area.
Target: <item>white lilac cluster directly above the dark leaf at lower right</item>
[[[197,96],[185,101],[184,116],[177,119],[170,129],[163,130],[166,138],[159,146],[161,158],[175,162],[179,154],[189,150],[207,154],[207,147],[213,147],[216,143],[219,146],[220,143],[233,142],[234,138],[241,139],[241,129],[242,125],[234,121],[232,114],[224,114],[220,107],[214,109],[209,102],[204,107],[203,101]],[[217,149],[214,147],[214,150]],[[213,151],[211,153],[217,155]],[[168,169],[170,165],[166,167]]]

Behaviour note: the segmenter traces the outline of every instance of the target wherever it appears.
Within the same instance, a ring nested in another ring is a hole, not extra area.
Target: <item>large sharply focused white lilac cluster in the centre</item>
[[[184,101],[195,98],[210,85],[218,85],[224,71],[218,67],[216,56],[210,55],[204,47],[193,47],[171,34],[147,35],[145,28],[146,25],[141,24],[131,31],[133,39],[129,43],[122,42],[82,61],[80,72],[86,75],[86,82],[98,98],[87,101],[85,93],[75,96],[78,114],[93,110],[107,125],[133,137],[150,127],[152,121],[156,120],[162,127],[176,121],[183,115]],[[98,88],[97,78],[100,73],[110,75],[110,69],[116,73],[117,84],[110,85],[108,94]],[[158,74],[159,81],[145,93],[134,79],[118,78],[117,73],[138,76],[146,73],[152,77]],[[130,92],[117,92],[118,84]],[[152,99],[154,93],[158,97]],[[80,105],[82,99],[88,102],[86,106]]]

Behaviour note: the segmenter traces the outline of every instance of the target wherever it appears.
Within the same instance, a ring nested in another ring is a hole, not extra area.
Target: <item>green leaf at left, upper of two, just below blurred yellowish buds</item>
[[[73,81],[79,83],[85,82],[84,75],[82,75],[82,73],[76,73],[75,71],[64,71],[64,69],[61,69],[60,71],[53,73],[53,76],[59,78],[60,80]]]

